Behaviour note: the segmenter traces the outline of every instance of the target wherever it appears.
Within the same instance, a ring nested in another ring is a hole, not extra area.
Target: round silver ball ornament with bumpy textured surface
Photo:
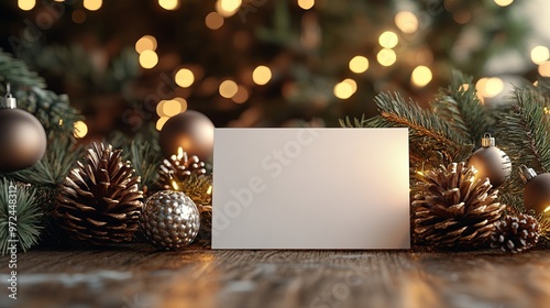
[[[179,250],[197,237],[200,213],[195,202],[184,193],[162,190],[145,200],[140,229],[155,248]]]

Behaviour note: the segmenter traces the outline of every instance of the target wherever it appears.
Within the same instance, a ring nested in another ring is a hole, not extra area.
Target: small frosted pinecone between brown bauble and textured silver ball
[[[180,151],[178,155],[172,155],[169,160],[164,160],[158,167],[158,186],[167,190],[175,189],[173,180],[183,182],[191,174],[206,174],[205,163],[196,155],[189,158],[187,152]]]

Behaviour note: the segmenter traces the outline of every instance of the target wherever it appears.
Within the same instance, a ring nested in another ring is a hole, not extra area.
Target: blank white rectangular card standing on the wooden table
[[[407,129],[216,129],[212,249],[409,249]]]

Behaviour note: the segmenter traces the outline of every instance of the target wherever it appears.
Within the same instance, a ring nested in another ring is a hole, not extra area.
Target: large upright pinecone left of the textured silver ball
[[[132,241],[143,191],[121,150],[94,143],[59,187],[54,216],[74,240],[96,244]]]

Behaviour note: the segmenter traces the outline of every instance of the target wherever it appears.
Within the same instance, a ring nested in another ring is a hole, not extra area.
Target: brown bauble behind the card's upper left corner
[[[172,117],[160,133],[160,144],[166,158],[178,153],[182,147],[189,156],[197,155],[201,161],[210,161],[213,151],[215,125],[198,111],[186,111]]]

